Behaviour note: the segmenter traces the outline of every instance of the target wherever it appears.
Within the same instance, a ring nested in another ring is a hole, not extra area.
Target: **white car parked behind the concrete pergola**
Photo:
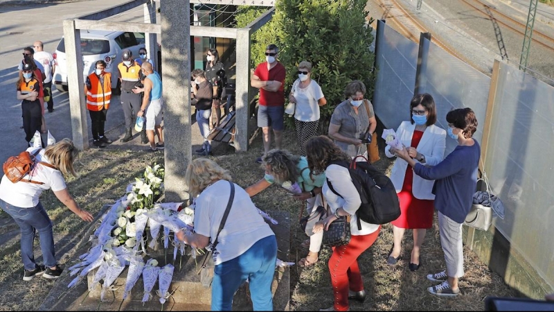
[[[106,71],[117,76],[117,65],[121,62],[123,49],[129,49],[133,58],[139,57],[139,49],[145,45],[144,33],[129,33],[123,31],[87,31],[81,30],[81,53],[83,64],[83,77],[86,79],[94,71],[94,64],[98,60],[104,60]],[[65,55],[65,41],[62,37],[57,44],[53,58],[56,68],[53,83],[60,92],[67,92],[67,66]],[[119,90],[119,80],[111,80],[111,88]]]

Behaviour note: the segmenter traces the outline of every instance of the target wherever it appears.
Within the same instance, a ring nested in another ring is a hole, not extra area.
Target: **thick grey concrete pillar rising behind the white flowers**
[[[190,137],[189,0],[161,1],[163,133],[166,141],[166,202],[187,198],[186,167],[193,159]]]

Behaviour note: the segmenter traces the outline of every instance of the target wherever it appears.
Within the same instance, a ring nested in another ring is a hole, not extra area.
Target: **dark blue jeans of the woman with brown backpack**
[[[21,229],[21,259],[25,270],[35,270],[36,268],[33,241],[35,241],[37,231],[39,232],[44,266],[47,268],[56,266],[52,221],[42,204],[39,202],[35,207],[21,208],[0,200],[0,207],[12,216]]]

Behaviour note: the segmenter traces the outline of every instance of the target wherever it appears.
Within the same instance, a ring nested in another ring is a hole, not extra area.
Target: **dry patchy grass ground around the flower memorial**
[[[293,153],[298,153],[296,135],[285,131],[283,146]],[[382,148],[381,148],[382,150]],[[257,182],[263,176],[263,170],[254,160],[262,153],[261,138],[258,135],[253,140],[247,153],[233,153],[226,145],[214,146],[215,157],[211,157],[222,167],[231,171],[233,180],[247,187]],[[127,150],[101,151],[87,150],[82,154],[78,164],[79,179],[70,180],[69,190],[76,200],[84,207],[97,214],[103,205],[114,202],[123,196],[125,187],[132,182],[133,177],[140,175],[146,164],[163,162],[163,155],[152,155]],[[382,155],[377,166],[388,173],[391,162]],[[260,209],[264,211],[280,210],[290,214],[291,234],[289,261],[298,261],[305,257],[307,250],[300,248],[300,243],[306,238],[298,227],[298,211],[301,203],[285,195],[285,190],[272,186],[253,198]],[[44,207],[53,219],[55,225],[55,242],[57,257],[60,263],[71,264],[71,259],[82,254],[82,243],[87,238],[82,237],[89,227],[63,207],[51,192],[42,196]],[[417,310],[417,311],[479,311],[483,310],[483,298],[487,295],[514,295],[502,279],[490,272],[476,258],[475,254],[465,249],[466,275],[461,279],[462,295],[454,300],[445,300],[429,295],[426,288],[432,286],[425,275],[443,269],[444,257],[440,248],[438,228],[435,226],[427,232],[427,238],[422,250],[422,267],[418,272],[410,272],[407,268],[409,252],[413,244],[411,232],[406,231],[402,256],[406,260],[396,266],[388,266],[385,258],[393,241],[390,225],[384,225],[379,239],[368,251],[359,257],[364,285],[368,291],[368,300],[364,304],[352,303],[354,311],[368,310]],[[19,229],[6,214],[0,215],[0,311],[36,310],[50,291],[53,281],[33,279],[31,282],[21,281],[23,269],[19,253]],[[36,243],[36,255],[39,261],[41,254]],[[310,268],[291,268],[291,309],[294,311],[313,311],[327,308],[332,304],[330,277],[326,266],[330,250],[323,249],[320,259]],[[285,259],[283,259],[285,260]]]

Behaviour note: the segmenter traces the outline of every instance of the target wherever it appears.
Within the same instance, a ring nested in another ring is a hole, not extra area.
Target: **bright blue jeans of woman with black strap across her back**
[[[231,311],[233,296],[248,279],[254,311],[273,311],[271,283],[277,259],[275,235],[267,236],[249,250],[215,266],[212,281],[212,311]]]

